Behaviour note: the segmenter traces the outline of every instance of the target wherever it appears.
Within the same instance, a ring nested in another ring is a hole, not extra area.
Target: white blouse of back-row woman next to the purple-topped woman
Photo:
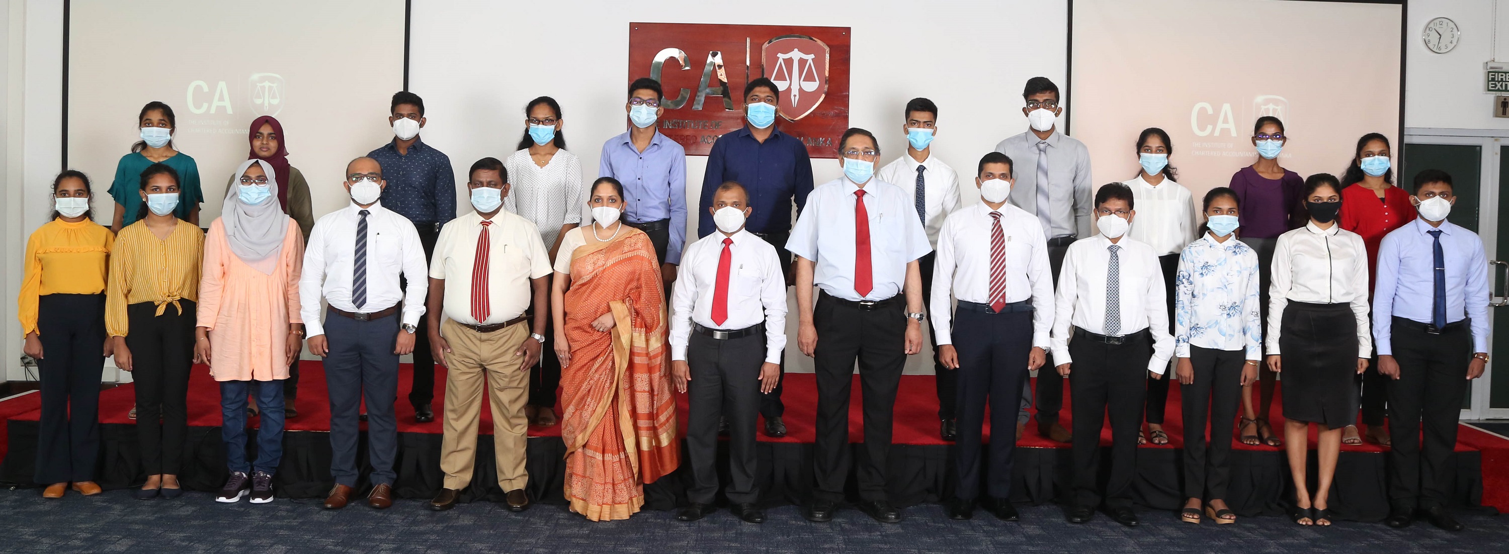
[[[1198,239],[1200,210],[1183,184],[1165,177],[1163,183],[1151,186],[1141,174],[1121,184],[1132,189],[1132,207],[1136,210],[1127,237],[1147,243],[1157,255],[1179,254]]]

